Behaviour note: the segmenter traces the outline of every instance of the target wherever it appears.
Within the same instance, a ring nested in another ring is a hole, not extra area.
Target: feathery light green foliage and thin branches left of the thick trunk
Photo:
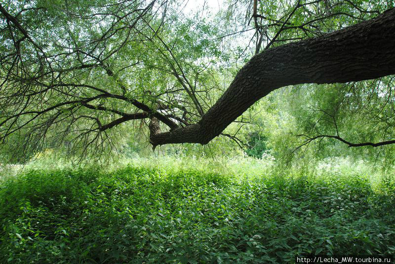
[[[139,144],[147,143],[146,137],[141,140],[148,131],[144,119],[154,112],[167,125],[196,122],[196,111],[209,108],[222,93],[216,65],[227,52],[220,52],[212,22],[179,13],[181,5],[5,1],[0,17],[0,49],[7,54],[0,60],[4,159],[21,155],[25,162],[56,148],[64,156],[90,154],[93,160],[114,154],[125,135],[140,135]]]

